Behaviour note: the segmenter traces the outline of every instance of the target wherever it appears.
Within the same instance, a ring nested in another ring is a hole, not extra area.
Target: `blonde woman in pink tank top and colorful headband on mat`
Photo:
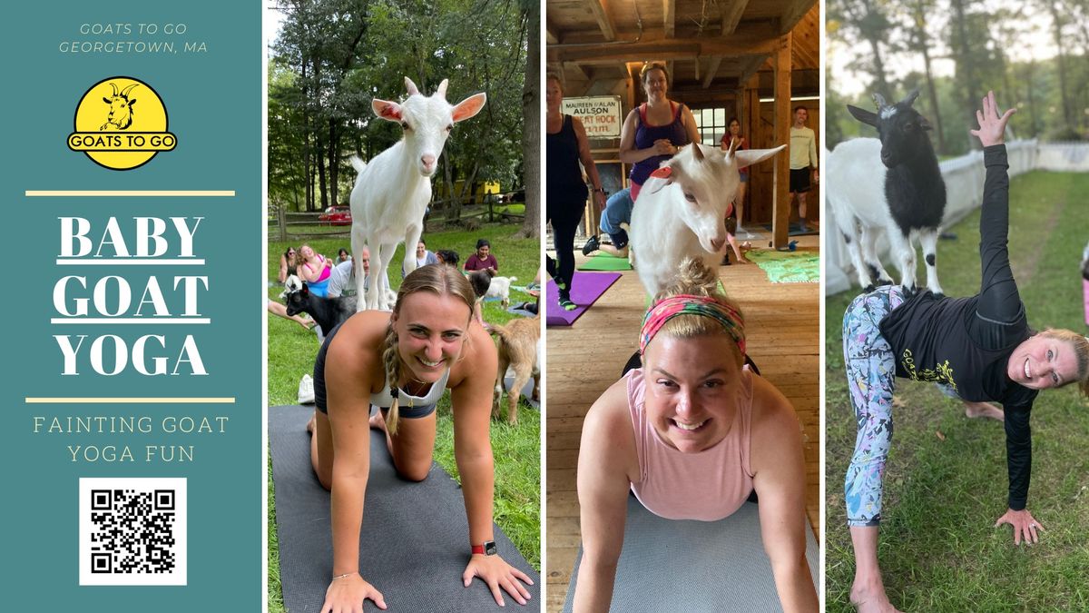
[[[628,490],[654,514],[702,520],[730,515],[755,491],[783,610],[817,611],[805,556],[798,422],[790,401],[743,366],[744,318],[717,284],[714,271],[685,261],[644,318],[643,368],[613,384],[586,416],[576,613],[609,610]]]

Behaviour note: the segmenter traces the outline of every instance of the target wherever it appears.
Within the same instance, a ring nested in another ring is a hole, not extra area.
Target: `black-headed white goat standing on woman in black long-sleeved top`
[[[927,135],[930,123],[911,108],[918,96],[916,89],[889,105],[880,94],[873,94],[876,113],[847,105],[855,119],[878,129],[880,139],[841,143],[828,158],[829,204],[858,283],[867,290],[893,283],[876,245],[881,232],[888,232],[901,285],[916,291],[915,236],[927,262],[927,289],[942,293],[937,247],[945,215],[945,181]]]

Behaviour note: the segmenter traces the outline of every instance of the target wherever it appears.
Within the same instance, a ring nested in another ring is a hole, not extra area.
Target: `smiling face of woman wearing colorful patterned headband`
[[[695,338],[663,333],[647,346],[647,418],[668,445],[696,453],[729,434],[741,385],[737,351],[725,333]]]

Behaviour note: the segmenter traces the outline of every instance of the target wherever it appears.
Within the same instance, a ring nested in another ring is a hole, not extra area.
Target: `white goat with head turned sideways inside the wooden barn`
[[[764,160],[785,146],[738,152],[731,145],[724,152],[693,144],[662,163],[632,209],[635,269],[647,293],[656,296],[669,286],[686,256],[718,269],[726,244],[726,208],[741,183],[737,167]]]

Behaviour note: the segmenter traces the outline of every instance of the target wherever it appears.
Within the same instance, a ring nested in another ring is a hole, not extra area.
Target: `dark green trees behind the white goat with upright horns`
[[[458,123],[435,179],[431,217],[456,220],[474,185],[525,189],[525,236],[538,235],[538,3],[528,0],[278,0],[269,52],[269,208],[346,204],[364,160],[401,139],[371,100],[402,100],[408,76],[425,95],[450,80],[452,104],[477,92],[485,109]],[[533,41],[533,44],[529,44]],[[436,196],[438,199],[438,196]],[[533,220],[533,223],[530,223]]]

